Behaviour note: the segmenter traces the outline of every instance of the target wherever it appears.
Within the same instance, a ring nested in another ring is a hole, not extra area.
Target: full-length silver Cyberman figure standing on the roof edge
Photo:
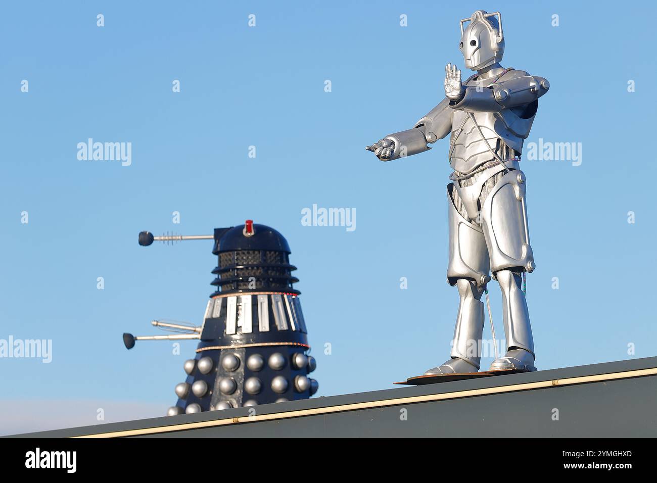
[[[470,22],[464,29],[464,24]],[[368,146],[382,161],[430,149],[450,135],[447,185],[449,264],[447,281],[459,290],[451,358],[425,374],[473,373],[480,367],[484,304],[489,273],[500,285],[507,353],[491,370],[535,371],[532,327],[522,272],[535,268],[527,223],[526,179],[519,162],[538,98],[549,83],[522,70],[503,68],[502,18],[478,10],[461,20],[459,45],[465,66],[476,73],[461,82],[447,64],[445,99],[413,129]]]

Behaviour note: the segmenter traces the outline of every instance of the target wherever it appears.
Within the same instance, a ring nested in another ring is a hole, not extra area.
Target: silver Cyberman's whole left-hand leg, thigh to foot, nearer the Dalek
[[[451,358],[425,374],[472,373],[479,370],[484,304],[480,301],[488,276],[486,239],[472,223],[453,184],[447,187],[449,202],[449,265],[447,281],[459,289],[459,312]]]

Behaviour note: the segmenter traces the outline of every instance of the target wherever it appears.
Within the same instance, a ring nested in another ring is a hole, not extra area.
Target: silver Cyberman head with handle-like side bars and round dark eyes
[[[470,24],[463,30],[465,22]],[[465,59],[465,66],[470,70],[480,70],[502,60],[504,34],[499,12],[478,10],[470,18],[461,20],[459,49]]]

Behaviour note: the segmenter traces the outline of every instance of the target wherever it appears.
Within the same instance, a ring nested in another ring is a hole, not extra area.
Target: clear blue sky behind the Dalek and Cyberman
[[[3,4],[0,339],[52,340],[52,361],[0,358],[0,433],[175,403],[195,342],[128,352],[121,334],[200,324],[216,259],[210,241],[143,248],[141,230],[254,219],[283,233],[317,396],[390,388],[447,359],[447,140],[388,163],[364,147],[440,102],[476,9],[502,12],[504,66],[551,83],[527,143],[581,155],[522,161],[537,367],[656,355],[654,3],[239,4]],[[79,160],[89,138],[131,143],[131,164]],[[355,229],[302,225],[313,204],[355,209]],[[497,285],[491,302],[499,336]]]

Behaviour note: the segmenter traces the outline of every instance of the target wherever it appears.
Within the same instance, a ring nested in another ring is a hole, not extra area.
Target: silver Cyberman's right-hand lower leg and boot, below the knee
[[[516,369],[535,371],[532,326],[522,292],[520,273],[500,270],[495,274],[502,290],[504,332],[507,336],[507,354],[495,359],[490,370]]]

